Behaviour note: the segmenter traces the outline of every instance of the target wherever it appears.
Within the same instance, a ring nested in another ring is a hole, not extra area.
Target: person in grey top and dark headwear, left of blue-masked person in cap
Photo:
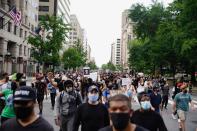
[[[61,131],[72,131],[74,114],[82,103],[82,98],[74,89],[71,79],[65,80],[63,84],[64,90],[56,98],[55,124],[60,126]]]

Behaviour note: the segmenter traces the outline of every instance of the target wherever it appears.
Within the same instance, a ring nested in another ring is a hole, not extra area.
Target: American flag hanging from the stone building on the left
[[[14,20],[14,24],[17,26],[21,25],[21,11],[17,11],[16,7],[13,7],[10,11],[9,11],[9,15],[10,17]]]

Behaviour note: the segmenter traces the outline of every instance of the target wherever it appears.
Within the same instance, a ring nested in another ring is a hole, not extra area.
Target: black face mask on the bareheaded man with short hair
[[[110,113],[113,126],[117,130],[123,130],[129,123],[129,113]]]

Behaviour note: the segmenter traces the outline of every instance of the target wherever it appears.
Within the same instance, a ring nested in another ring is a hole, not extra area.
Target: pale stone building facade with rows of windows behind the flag
[[[0,73],[32,75],[35,72],[36,62],[30,57],[27,37],[35,35],[38,5],[38,0],[0,0]],[[16,26],[8,14],[13,6],[21,11],[20,26]]]

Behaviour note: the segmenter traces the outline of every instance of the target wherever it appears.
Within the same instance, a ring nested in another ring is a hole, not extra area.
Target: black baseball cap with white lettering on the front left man
[[[14,101],[31,101],[36,99],[36,92],[29,86],[21,86],[14,93]]]

